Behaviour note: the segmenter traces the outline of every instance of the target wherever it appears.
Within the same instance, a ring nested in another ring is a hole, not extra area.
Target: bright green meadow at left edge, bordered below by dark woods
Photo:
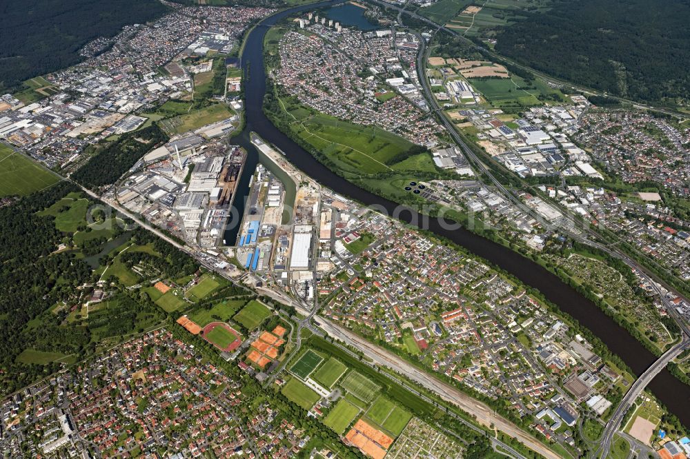
[[[57,181],[41,165],[0,143],[0,196],[26,196]]]

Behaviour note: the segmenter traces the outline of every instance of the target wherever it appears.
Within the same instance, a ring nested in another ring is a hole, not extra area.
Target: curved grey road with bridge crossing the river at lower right
[[[654,379],[654,376],[658,375],[659,372],[662,369],[664,369],[664,367],[666,367],[666,365],[671,360],[678,357],[678,355],[680,355],[680,353],[684,351],[684,349],[687,349],[687,347],[690,347],[690,338],[688,338],[687,335],[684,335],[680,343],[666,351],[666,353],[663,356],[661,356],[659,360],[656,360],[655,363],[653,363],[651,367],[647,369],[647,371],[644,371],[640,378],[635,380],[635,382],[631,385],[630,389],[628,389],[627,393],[623,397],[623,400],[615,409],[613,416],[611,416],[611,419],[607,423],[606,427],[604,428],[604,435],[600,440],[600,445],[598,449],[593,453],[593,458],[606,458],[609,455],[609,451],[611,449],[611,442],[613,441],[613,436],[615,432],[618,431],[620,427],[620,422],[623,420],[623,417],[627,413],[630,405],[635,401],[636,398],[638,398],[640,392],[642,392],[644,388],[647,387],[649,382]]]

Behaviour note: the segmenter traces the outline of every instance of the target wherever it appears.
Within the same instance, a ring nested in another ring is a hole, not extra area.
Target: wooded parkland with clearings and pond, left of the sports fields
[[[165,278],[184,278],[199,269],[193,258],[141,228],[90,230],[88,216],[105,223],[101,207],[90,213],[96,204],[76,185],[62,181],[0,207],[3,393],[92,354],[105,341],[114,343],[161,323],[163,309],[121,281],[123,274],[134,276],[128,270],[133,265]],[[66,247],[59,249],[61,243]],[[117,258],[124,247],[130,248],[128,256]],[[96,258],[95,267],[89,258]],[[110,285],[110,294],[84,315],[81,305],[101,278]]]

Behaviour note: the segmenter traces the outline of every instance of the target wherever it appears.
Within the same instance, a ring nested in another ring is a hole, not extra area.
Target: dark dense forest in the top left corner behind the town
[[[157,0],[0,2],[0,90],[15,90],[23,80],[73,65],[89,41],[166,11]]]

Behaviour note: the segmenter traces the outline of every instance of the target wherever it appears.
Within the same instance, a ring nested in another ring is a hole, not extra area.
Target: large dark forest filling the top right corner
[[[653,103],[690,98],[690,1],[556,0],[496,50],[553,76]]]

